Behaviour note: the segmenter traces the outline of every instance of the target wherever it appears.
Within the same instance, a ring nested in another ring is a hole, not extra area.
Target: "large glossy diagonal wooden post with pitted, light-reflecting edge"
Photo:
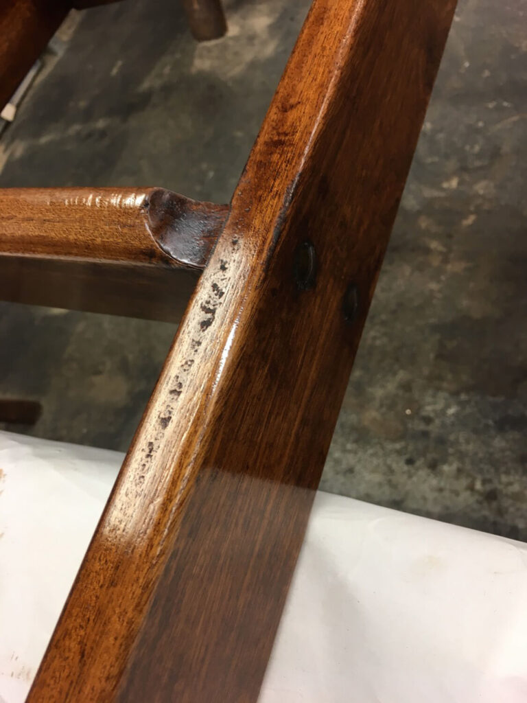
[[[29,703],[256,700],[453,9],[315,0]]]

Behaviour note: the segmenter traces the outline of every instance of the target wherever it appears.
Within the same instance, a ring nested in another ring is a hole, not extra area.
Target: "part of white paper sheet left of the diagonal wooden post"
[[[121,462],[0,432],[0,703],[25,700]]]

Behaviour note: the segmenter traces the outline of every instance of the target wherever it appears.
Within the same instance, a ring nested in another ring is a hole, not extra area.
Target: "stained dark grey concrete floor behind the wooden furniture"
[[[0,186],[228,201],[308,1],[226,8],[200,45],[172,0],[72,18],[0,139]],[[322,487],[527,540],[525,13],[460,0]],[[20,430],[126,448],[174,327],[0,306],[0,394],[44,406]]]

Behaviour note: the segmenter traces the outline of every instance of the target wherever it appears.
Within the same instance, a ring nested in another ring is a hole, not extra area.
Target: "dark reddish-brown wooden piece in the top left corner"
[[[0,110],[58,30],[69,0],[1,0]]]

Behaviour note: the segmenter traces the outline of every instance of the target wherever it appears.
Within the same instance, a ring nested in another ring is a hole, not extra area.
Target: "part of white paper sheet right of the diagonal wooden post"
[[[259,703],[525,703],[527,545],[319,493]]]

